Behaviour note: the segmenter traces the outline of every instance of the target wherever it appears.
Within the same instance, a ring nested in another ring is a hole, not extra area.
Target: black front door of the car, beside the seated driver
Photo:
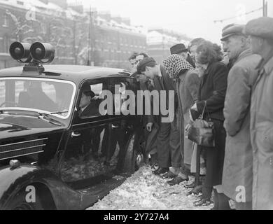
[[[83,95],[83,87],[90,86],[94,97],[90,101],[92,110],[81,113],[79,108],[80,98]],[[109,142],[105,141],[108,133],[109,116],[100,114],[99,94],[109,89],[106,78],[87,80],[80,86],[80,92],[76,102],[76,114],[73,116],[69,139],[66,144],[60,174],[66,183],[74,183],[102,176],[111,171],[112,167],[104,165],[105,154]],[[94,109],[96,108],[96,109]],[[103,141],[104,140],[104,141]]]

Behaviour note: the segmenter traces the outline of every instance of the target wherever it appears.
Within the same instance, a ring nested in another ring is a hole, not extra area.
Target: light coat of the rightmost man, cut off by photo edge
[[[273,54],[259,67],[251,98],[253,209],[273,209]]]

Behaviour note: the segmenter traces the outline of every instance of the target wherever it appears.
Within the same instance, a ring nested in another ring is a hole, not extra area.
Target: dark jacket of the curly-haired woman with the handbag
[[[212,62],[200,81],[198,92],[197,110],[193,113],[193,118],[198,118],[204,109],[207,101],[207,109],[204,119],[224,120],[223,108],[225,103],[225,92],[228,85],[228,69],[222,62]]]

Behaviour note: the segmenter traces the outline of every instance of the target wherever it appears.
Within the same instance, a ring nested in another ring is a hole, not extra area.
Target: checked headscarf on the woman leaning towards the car
[[[181,70],[193,70],[193,66],[190,65],[183,57],[180,55],[170,55],[163,60],[163,65],[169,76],[173,79],[176,79],[179,76]]]

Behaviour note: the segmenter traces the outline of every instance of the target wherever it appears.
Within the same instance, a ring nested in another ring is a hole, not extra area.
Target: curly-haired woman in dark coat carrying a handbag
[[[202,198],[195,202],[195,206],[210,204],[213,188],[214,194],[218,194],[221,190],[219,186],[222,183],[226,137],[223,127],[223,108],[227,89],[228,69],[225,64],[220,62],[220,50],[221,48],[219,47],[217,52],[216,45],[209,41],[204,41],[197,47],[195,56],[197,70],[202,78],[198,101],[191,108],[191,115],[193,119],[197,119],[202,114],[205,104],[207,105],[204,110],[204,120],[211,118],[211,121],[214,122],[216,144],[215,147],[198,146],[204,151],[207,174],[202,186]],[[218,195],[218,199],[221,200],[221,203],[227,205],[227,209],[229,208],[228,197],[221,193],[221,197]]]

